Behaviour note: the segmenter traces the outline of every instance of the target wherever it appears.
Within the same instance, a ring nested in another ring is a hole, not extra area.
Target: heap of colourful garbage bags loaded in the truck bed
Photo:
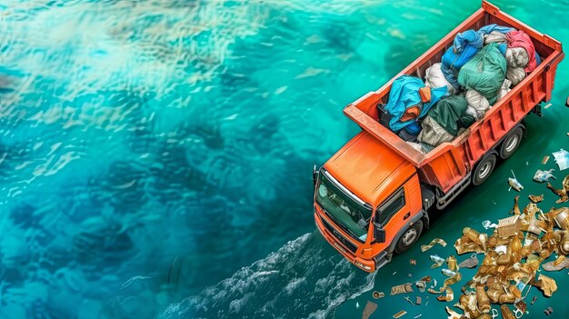
[[[422,153],[460,135],[541,63],[524,31],[485,25],[454,37],[424,80],[394,80],[384,112],[389,128]]]

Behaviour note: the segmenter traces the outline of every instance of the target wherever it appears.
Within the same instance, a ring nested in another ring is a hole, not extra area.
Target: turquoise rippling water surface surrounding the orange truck
[[[495,3],[569,45],[569,2]],[[358,318],[370,300],[372,318],[445,317],[434,296],[371,298],[408,274],[443,277],[419,245],[376,274],[346,262],[315,231],[311,172],[359,130],[344,105],[479,7],[3,1],[0,318]],[[510,170],[523,199],[553,205],[531,178],[556,167],[544,155],[569,149],[568,65],[516,154],[434,216],[419,244],[442,237],[433,253],[453,254],[464,226],[507,215]],[[549,305],[551,318],[569,314],[569,278],[554,278],[559,291],[524,317]]]

